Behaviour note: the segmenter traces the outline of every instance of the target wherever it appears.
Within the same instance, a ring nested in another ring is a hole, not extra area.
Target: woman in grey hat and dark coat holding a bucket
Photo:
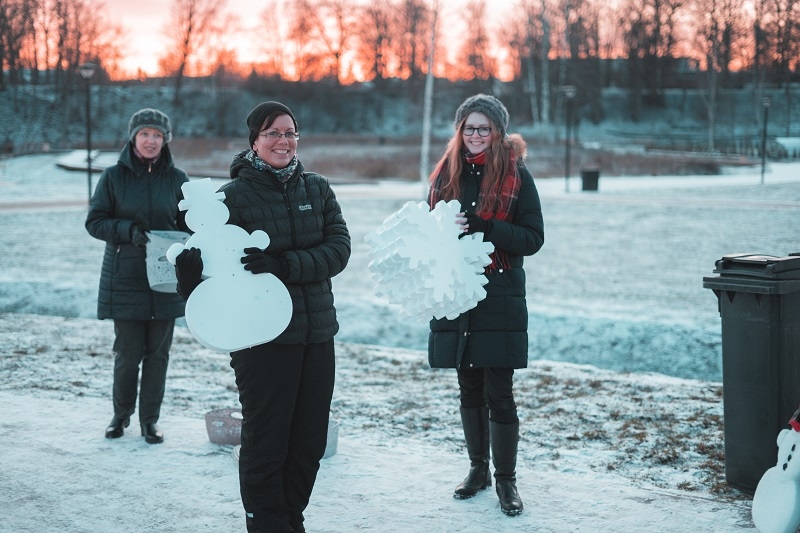
[[[106,242],[97,318],[114,319],[114,417],[106,437],[121,437],[130,423],[141,364],[139,422],[145,440],[157,444],[164,440],[156,422],[175,319],[183,316],[184,301],[176,293],[150,289],[146,232],[187,230],[178,202],[188,178],[172,161],[167,115],[157,109],[137,111],[128,124],[128,137],[117,164],[100,176],[86,230]]]

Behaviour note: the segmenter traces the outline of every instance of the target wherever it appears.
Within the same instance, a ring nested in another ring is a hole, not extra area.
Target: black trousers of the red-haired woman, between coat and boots
[[[513,368],[458,369],[461,407],[489,406],[489,418],[498,424],[519,422],[514,402]]]

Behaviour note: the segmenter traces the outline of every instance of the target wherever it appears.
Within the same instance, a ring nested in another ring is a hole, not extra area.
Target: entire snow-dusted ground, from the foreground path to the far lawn
[[[0,160],[0,531],[242,530],[230,448],[209,443],[203,421],[237,405],[227,355],[177,328],[164,445],[102,438],[103,244],[83,228],[85,173],[56,157]],[[537,183],[546,242],[526,262],[515,518],[493,491],[450,497],[467,465],[455,378],[427,368],[427,324],[371,291],[363,236],[422,186],[337,185],[354,245],[334,279],[342,426],[309,531],[752,529],[749,499],[721,472],[720,317],[702,278],[727,253],[800,251],[800,165],[771,165],[764,185],[758,171],[601,176],[596,193]]]

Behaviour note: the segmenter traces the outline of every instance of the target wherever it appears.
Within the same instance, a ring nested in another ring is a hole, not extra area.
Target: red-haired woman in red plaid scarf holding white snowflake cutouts
[[[519,418],[515,368],[528,365],[528,309],[523,257],[544,244],[539,193],[525,168],[525,141],[508,135],[508,111],[478,94],[456,111],[455,134],[430,176],[428,203],[457,199],[456,224],[464,234],[483,233],[494,245],[486,267],[486,298],[453,320],[433,319],[428,339],[432,368],[455,368],[469,474],[454,497],[471,498],[491,486],[507,515],[522,512],[516,486]]]

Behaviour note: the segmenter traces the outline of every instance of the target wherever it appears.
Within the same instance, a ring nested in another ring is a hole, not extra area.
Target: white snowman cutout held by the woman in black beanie
[[[210,178],[184,183],[186,225],[194,231],[185,244],[167,250],[167,260],[185,249],[199,248],[203,282],[186,301],[186,325],[200,344],[219,352],[242,350],[273,340],[292,318],[292,300],[284,284],[272,274],[253,274],[244,269],[244,249],[265,249],[269,236],[252,234],[227,224],[230,213]]]

